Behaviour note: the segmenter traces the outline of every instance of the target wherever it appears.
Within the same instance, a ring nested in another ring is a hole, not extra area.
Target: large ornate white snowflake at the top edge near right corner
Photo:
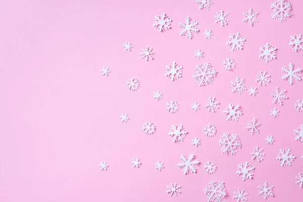
[[[274,9],[274,13],[271,14],[272,19],[279,20],[280,22],[292,16],[289,12],[291,10],[291,4],[289,2],[286,3],[284,0],[278,0],[272,3],[270,8]]]

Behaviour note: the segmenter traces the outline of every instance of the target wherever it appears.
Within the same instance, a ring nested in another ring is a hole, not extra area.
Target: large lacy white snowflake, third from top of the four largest
[[[224,133],[222,138],[219,139],[219,143],[222,146],[221,150],[223,154],[232,154],[237,153],[237,148],[241,148],[241,141],[237,134]]]

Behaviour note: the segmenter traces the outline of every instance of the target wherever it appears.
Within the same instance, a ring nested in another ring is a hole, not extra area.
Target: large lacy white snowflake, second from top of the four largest
[[[211,69],[212,65],[210,63],[205,63],[204,66],[196,65],[195,73],[193,73],[192,78],[198,82],[199,86],[205,86],[206,84],[212,84],[216,74],[218,73],[215,69]]]

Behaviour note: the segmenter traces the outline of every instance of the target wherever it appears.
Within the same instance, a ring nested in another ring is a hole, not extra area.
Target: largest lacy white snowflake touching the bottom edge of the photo
[[[224,182],[211,180],[205,187],[204,193],[207,195],[208,202],[221,202],[223,197],[226,196]]]

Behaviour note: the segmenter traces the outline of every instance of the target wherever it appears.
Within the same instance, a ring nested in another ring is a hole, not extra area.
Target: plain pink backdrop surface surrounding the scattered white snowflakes
[[[303,124],[303,113],[294,109],[296,99],[303,99],[303,81],[289,85],[281,79],[281,67],[290,62],[303,67],[303,51],[295,53],[288,45],[290,35],[302,32],[303,3],[292,0],[293,16],[280,23],[271,19],[272,1],[213,0],[210,10],[199,10],[191,1],[21,1],[2,2],[0,7],[0,201],[207,201],[203,189],[210,180],[224,181],[227,196],[245,189],[248,201],[263,201],[257,186],[268,181],[274,197],[267,201],[298,201],[303,188],[295,176],[303,172],[302,143],[294,140],[293,129]],[[242,22],[242,12],[259,12],[253,27]],[[221,27],[214,23],[217,11],[229,13],[230,22]],[[172,20],[171,29],[159,32],[154,18],[165,12]],[[178,23],[189,16],[197,21],[200,32],[193,39],[179,35]],[[205,29],[212,29],[212,39],[205,39]],[[242,51],[231,52],[226,44],[230,33],[240,32],[246,39]],[[125,41],[133,44],[125,52]],[[277,59],[259,58],[259,47],[269,42],[278,48]],[[141,60],[141,48],[153,47],[154,60]],[[204,58],[197,60],[200,48]],[[236,68],[226,71],[222,62],[236,61]],[[181,79],[171,81],[165,66],[176,61],[183,67]],[[199,87],[191,76],[197,64],[210,62],[219,72],[212,85]],[[107,66],[110,76],[102,76]],[[267,71],[271,82],[259,86],[259,71]],[[258,87],[256,97],[244,91],[232,93],[230,81],[245,78],[247,88]],[[140,81],[137,91],[130,91],[126,81]],[[274,89],[286,89],[289,97],[283,106],[272,103]],[[164,93],[159,102],[153,93]],[[216,96],[220,109],[209,113],[209,96]],[[179,111],[170,114],[165,105],[174,99]],[[190,104],[198,102],[194,112]],[[237,122],[226,121],[223,110],[228,104],[240,105],[243,115]],[[273,118],[270,110],[280,110]],[[128,113],[128,123],[121,123],[121,113]],[[262,123],[260,134],[244,130],[246,122],[256,117]],[[157,131],[145,135],[141,126],[154,122]],[[211,123],[217,127],[214,137],[203,134]],[[172,124],[183,124],[188,136],[174,143],[168,135]],[[238,134],[242,148],[235,156],[222,154],[218,139],[224,132]],[[266,144],[273,135],[273,145]],[[197,148],[194,137],[201,139]],[[264,161],[251,160],[256,146],[264,148]],[[280,167],[279,149],[291,148],[296,156],[292,166]],[[177,167],[180,155],[194,154],[200,161],[197,173],[182,174]],[[139,169],[132,168],[139,158]],[[218,170],[204,172],[206,161],[215,161]],[[100,171],[100,161],[107,161],[108,171]],[[165,169],[155,170],[157,161]],[[238,164],[248,161],[255,169],[253,179],[237,176]],[[171,182],[181,185],[177,197],[166,193]]]

